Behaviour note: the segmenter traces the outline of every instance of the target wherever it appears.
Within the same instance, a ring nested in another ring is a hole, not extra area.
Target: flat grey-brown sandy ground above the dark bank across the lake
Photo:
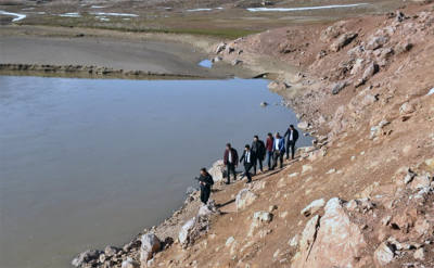
[[[260,73],[229,63],[199,66],[213,56],[210,48],[217,40],[188,35],[12,25],[2,27],[0,36],[1,64],[89,65],[216,79]]]

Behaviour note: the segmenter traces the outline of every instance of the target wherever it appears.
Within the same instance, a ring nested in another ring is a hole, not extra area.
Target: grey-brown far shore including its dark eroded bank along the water
[[[212,68],[199,63],[216,55],[220,40],[187,34],[120,33],[88,28],[8,25],[0,28],[0,73],[125,79],[255,78],[278,73],[271,59],[261,64],[221,61]],[[284,66],[283,66],[284,67]]]

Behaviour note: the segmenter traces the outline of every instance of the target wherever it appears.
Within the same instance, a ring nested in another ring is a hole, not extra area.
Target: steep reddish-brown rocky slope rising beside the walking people
[[[179,240],[166,240],[164,251],[152,234],[164,237],[158,227],[94,264],[434,267],[433,7],[224,44],[225,61],[254,65],[261,55],[299,66],[270,88],[298,110],[301,126],[322,136],[283,170],[248,187],[219,184],[217,206],[188,225],[197,206],[183,208],[189,217],[171,229]],[[196,196],[189,202],[197,205]]]

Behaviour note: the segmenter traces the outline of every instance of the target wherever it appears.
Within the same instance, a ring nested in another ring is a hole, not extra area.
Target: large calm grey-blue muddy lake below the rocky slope
[[[69,267],[157,225],[227,142],[295,123],[263,101],[281,101],[265,80],[0,76],[0,267]]]

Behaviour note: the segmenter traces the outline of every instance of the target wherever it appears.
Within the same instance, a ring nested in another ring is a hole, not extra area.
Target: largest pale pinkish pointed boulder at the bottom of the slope
[[[306,267],[354,267],[361,257],[363,234],[349,220],[342,203],[337,197],[327,203],[310,254],[305,258]]]

